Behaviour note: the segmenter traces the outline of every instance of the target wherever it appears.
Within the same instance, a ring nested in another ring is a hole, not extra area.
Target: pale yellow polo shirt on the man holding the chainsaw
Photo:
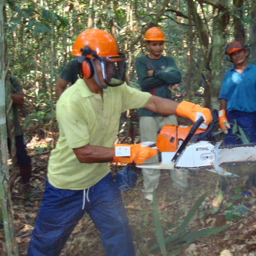
[[[48,179],[62,189],[85,189],[93,186],[110,172],[108,163],[81,163],[73,148],[89,145],[113,147],[123,111],[143,108],[149,93],[126,83],[103,90],[103,99],[78,79],[64,91],[56,106],[60,138],[52,150]]]

